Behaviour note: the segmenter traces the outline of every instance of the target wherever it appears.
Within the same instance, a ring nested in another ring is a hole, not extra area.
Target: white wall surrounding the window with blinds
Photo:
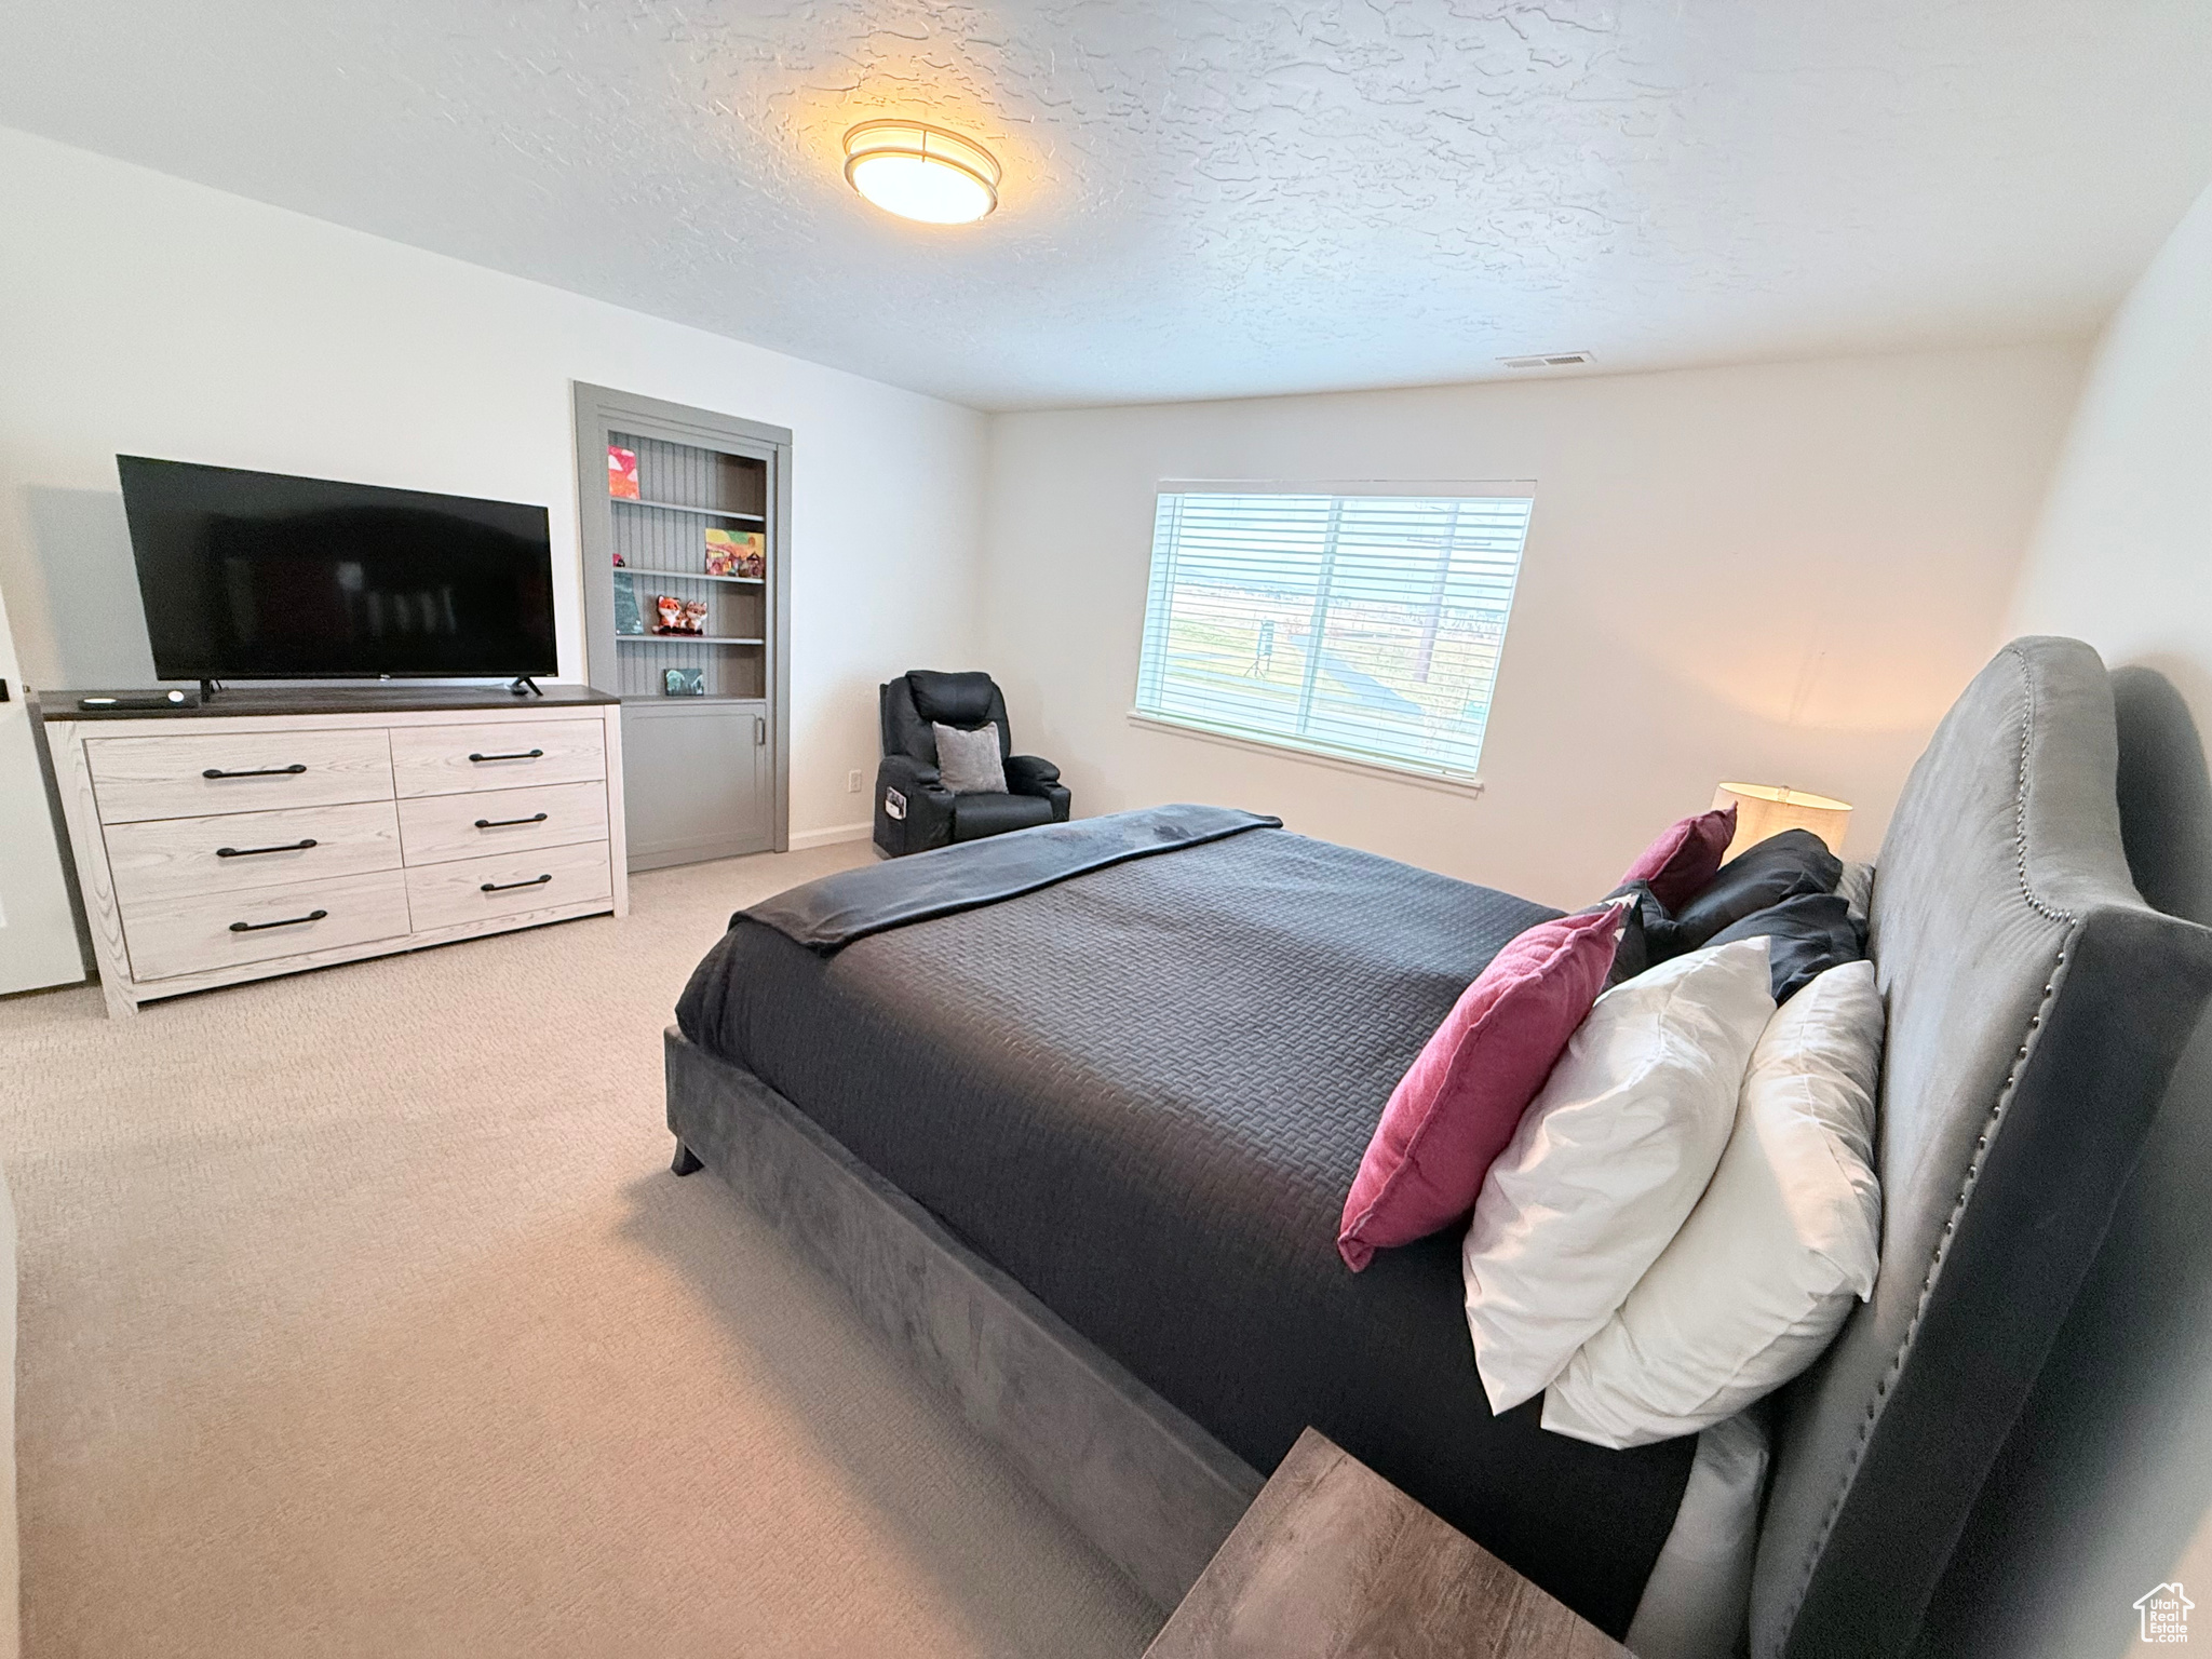
[[[2000,633],[2084,347],[1000,416],[989,644],[1077,810],[1223,801],[1588,902],[1721,779],[1871,858]],[[1471,801],[1126,721],[1161,478],[1535,478]]]

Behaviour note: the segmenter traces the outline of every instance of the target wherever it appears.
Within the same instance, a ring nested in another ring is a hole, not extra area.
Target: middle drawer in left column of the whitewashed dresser
[[[400,867],[400,816],[389,801],[212,818],[146,818],[106,827],[115,898],[135,905],[234,894]]]

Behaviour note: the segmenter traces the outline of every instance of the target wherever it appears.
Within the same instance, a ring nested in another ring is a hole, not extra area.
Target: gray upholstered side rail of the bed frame
[[[1263,1478],[743,1066],[666,1035],[668,1128],[1164,1613]]]

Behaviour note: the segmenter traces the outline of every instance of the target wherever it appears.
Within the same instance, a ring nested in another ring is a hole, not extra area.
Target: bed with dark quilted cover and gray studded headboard
[[[1759,1655],[1909,1648],[2212,995],[2212,933],[2130,880],[2117,745],[2095,653],[2017,641],[1900,799],[1882,1272],[1774,1402]],[[1391,1084],[1555,911],[1181,814],[732,918],[668,1035],[679,1168],[776,1217],[1164,1606],[1314,1425],[1626,1630],[1694,1444],[1493,1416],[1455,1234],[1358,1276],[1334,1250]]]

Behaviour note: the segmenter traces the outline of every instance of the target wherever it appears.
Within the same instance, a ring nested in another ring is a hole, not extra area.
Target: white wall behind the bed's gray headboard
[[[2212,734],[2212,190],[2097,347],[2006,626],[2088,639],[2166,675]],[[2212,787],[2163,781],[2194,876],[2161,896],[2212,922]],[[2188,807],[2188,810],[2183,810]],[[2037,1385],[1973,1655],[2135,1652],[2137,1595],[2181,1579],[2212,1621],[2212,1024],[2146,1141],[2104,1261]],[[2141,1648],[2148,1652],[2148,1648]],[[2157,1648],[2166,1652],[2166,1648]]]

